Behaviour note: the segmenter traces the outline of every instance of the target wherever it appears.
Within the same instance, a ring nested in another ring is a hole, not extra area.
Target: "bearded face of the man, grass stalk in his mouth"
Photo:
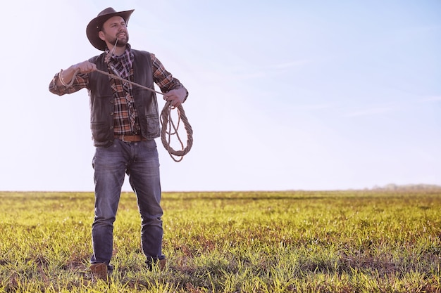
[[[101,31],[98,32],[98,35],[100,39],[112,45],[114,45],[116,39],[118,39],[116,46],[120,47],[125,46],[129,41],[129,32],[125,25],[125,20],[120,16],[113,16],[106,20]]]

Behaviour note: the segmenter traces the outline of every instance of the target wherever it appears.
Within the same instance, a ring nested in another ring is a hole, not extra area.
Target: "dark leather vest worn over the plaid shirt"
[[[154,89],[153,72],[151,71],[151,57],[146,51],[132,49],[133,82]],[[104,62],[105,53],[89,59],[97,65],[97,69],[108,72]],[[90,98],[90,128],[94,145],[108,147],[113,143],[113,115],[115,98],[111,89],[108,76],[99,72],[89,73],[89,98]],[[159,109],[156,93],[132,86],[135,108],[139,118],[141,134],[144,138],[154,139],[160,136]]]

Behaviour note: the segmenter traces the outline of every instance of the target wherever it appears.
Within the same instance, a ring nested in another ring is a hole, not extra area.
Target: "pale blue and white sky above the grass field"
[[[108,6],[135,9],[132,48],[190,92],[190,152],[175,162],[156,140],[163,191],[441,185],[439,0],[4,6],[0,190],[94,190],[87,91],[48,87],[101,53],[85,30]]]

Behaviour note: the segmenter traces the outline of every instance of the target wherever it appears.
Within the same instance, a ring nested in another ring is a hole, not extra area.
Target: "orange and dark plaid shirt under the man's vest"
[[[159,86],[161,91],[165,93],[172,89],[180,88],[182,84],[180,84],[179,80],[175,79],[172,74],[165,69],[161,61],[159,61],[153,53],[150,53],[150,56],[152,61],[153,80]],[[119,63],[117,60],[113,59],[114,58],[111,58],[108,63],[109,72],[133,82],[133,68],[130,63],[130,46],[128,46],[128,50],[123,54],[123,58],[120,58]],[[113,65],[113,68],[110,65]],[[129,67],[130,70],[127,71]],[[55,74],[54,79],[52,79],[49,84],[49,91],[51,91],[51,93],[62,96],[66,93],[75,93],[76,91],[80,91],[80,89],[89,89],[89,77],[87,74],[77,74],[75,82],[73,82],[73,85],[70,87],[56,86],[58,74],[59,73]],[[125,76],[127,74],[128,77]],[[113,116],[115,134],[138,134],[140,128],[137,111],[133,105],[132,84],[113,78],[110,78],[110,83],[113,90],[113,96],[115,97],[115,111]]]

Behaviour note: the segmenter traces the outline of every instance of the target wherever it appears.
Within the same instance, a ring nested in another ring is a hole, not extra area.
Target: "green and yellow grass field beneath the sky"
[[[441,191],[163,193],[147,271],[123,193],[115,271],[91,282],[93,193],[0,193],[0,292],[441,292]]]

